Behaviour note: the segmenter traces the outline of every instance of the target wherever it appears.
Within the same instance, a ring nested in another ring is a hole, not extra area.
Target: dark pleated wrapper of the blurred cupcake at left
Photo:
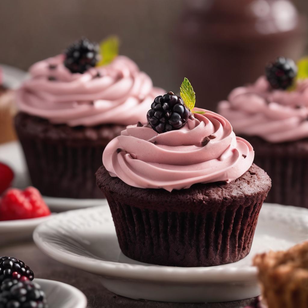
[[[41,140],[18,134],[31,181],[44,196],[103,198],[95,172],[101,165],[103,146]]]

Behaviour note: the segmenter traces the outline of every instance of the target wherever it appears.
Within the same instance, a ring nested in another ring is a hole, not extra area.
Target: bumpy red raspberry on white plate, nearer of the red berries
[[[0,201],[0,221],[48,215],[50,210],[34,187],[28,187],[24,191],[16,188],[9,189]]]

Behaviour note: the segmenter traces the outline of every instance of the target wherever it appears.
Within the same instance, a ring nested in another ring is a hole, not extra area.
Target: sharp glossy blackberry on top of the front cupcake
[[[147,119],[156,132],[164,133],[183,127],[190,114],[183,99],[173,92],[168,92],[154,99]]]

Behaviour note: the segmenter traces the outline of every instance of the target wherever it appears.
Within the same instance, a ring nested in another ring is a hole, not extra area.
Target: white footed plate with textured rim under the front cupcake
[[[172,267],[141,263],[124,256],[109,208],[58,214],[34,231],[36,245],[67,265],[102,276],[108,290],[135,299],[166,302],[224,302],[260,294],[256,253],[287,249],[308,238],[308,210],[264,204],[250,254],[212,267]]]

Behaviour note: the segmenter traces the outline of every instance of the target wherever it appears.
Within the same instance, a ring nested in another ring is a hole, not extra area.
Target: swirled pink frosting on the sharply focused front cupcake
[[[207,136],[211,137],[206,144]],[[172,191],[235,180],[249,169],[253,158],[252,146],[235,136],[231,124],[206,111],[194,114],[183,128],[162,134],[146,124],[128,126],[105,148],[103,165],[128,185]]]

